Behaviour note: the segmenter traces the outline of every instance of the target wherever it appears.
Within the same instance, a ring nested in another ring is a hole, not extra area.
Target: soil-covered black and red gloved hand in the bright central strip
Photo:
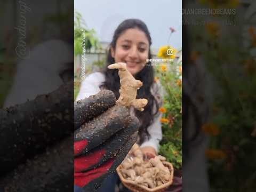
[[[107,90],[75,103],[75,127],[80,127],[74,135],[74,184],[84,191],[97,191],[137,140],[138,119],[113,105],[115,95]]]

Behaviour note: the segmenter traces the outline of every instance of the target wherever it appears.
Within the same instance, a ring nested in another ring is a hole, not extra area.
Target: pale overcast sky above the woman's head
[[[169,44],[176,49],[182,46],[181,0],[75,0],[75,9],[82,14],[87,27],[97,31],[100,41],[110,42],[119,23],[137,18],[146,23],[154,49],[167,45],[170,27],[177,31],[171,35]]]

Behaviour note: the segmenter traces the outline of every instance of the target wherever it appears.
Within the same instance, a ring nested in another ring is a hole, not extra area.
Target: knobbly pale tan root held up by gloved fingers
[[[148,103],[147,99],[136,99],[137,90],[142,86],[142,82],[136,80],[127,70],[126,63],[118,62],[108,66],[109,69],[118,69],[120,77],[120,97],[116,101],[125,107],[133,106],[135,109],[143,111]]]

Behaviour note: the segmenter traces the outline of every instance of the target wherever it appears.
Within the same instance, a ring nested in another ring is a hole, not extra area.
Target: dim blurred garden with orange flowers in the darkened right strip
[[[204,74],[209,119],[201,131],[210,191],[256,189],[256,2],[191,1],[188,7],[233,9],[233,14],[188,15],[190,63]],[[191,25],[190,25],[191,24]]]

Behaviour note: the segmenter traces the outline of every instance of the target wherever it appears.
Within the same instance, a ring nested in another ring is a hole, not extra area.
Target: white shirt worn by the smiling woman
[[[76,97],[76,101],[88,98],[90,95],[94,95],[100,92],[100,85],[105,82],[105,76],[102,73],[95,72],[87,77],[81,83],[79,93]],[[162,97],[163,91],[160,84],[154,84],[151,87],[151,93],[155,96],[156,93]],[[161,98],[160,98],[161,99]],[[148,133],[150,135],[149,140],[145,140],[140,147],[150,146],[153,147],[156,151],[159,149],[159,142],[162,140],[162,127],[160,119],[162,114],[156,115],[153,123],[148,127]]]

